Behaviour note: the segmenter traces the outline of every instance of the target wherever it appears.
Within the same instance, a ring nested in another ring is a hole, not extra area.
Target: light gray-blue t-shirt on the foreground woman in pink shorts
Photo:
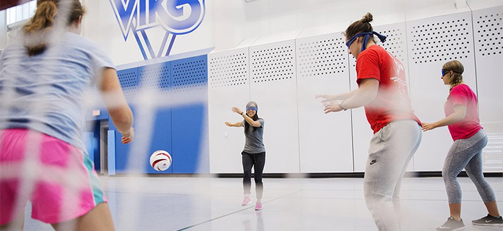
[[[0,56],[0,130],[36,130],[85,150],[85,91],[97,70],[114,68],[112,60],[71,32],[38,56],[27,56],[21,40]]]

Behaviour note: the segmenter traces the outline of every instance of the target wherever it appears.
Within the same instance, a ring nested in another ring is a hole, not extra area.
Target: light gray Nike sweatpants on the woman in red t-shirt
[[[400,184],[421,143],[416,121],[394,121],[373,135],[365,167],[365,202],[380,231],[400,230]]]

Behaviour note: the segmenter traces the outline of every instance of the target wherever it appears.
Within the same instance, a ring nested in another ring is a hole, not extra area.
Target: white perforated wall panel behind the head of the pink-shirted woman
[[[445,117],[443,105],[449,86],[443,85],[440,71],[445,62],[462,62],[466,84],[476,89],[471,12],[407,21],[407,37],[413,108],[422,122],[432,123]],[[424,133],[415,154],[414,170],[441,171],[450,145],[452,138],[447,127]]]

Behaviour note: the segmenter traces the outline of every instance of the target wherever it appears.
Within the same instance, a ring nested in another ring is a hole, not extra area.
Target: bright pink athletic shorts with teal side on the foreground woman
[[[0,224],[24,214],[60,223],[106,202],[93,162],[81,149],[24,129],[0,130]]]

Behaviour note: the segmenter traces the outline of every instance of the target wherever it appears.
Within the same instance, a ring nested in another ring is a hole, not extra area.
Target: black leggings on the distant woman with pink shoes
[[[255,190],[257,199],[262,199],[264,184],[262,184],[262,171],[265,166],[265,152],[258,154],[249,154],[245,151],[241,152],[243,156],[243,189],[245,194],[251,193],[252,188],[252,167],[254,167]]]

